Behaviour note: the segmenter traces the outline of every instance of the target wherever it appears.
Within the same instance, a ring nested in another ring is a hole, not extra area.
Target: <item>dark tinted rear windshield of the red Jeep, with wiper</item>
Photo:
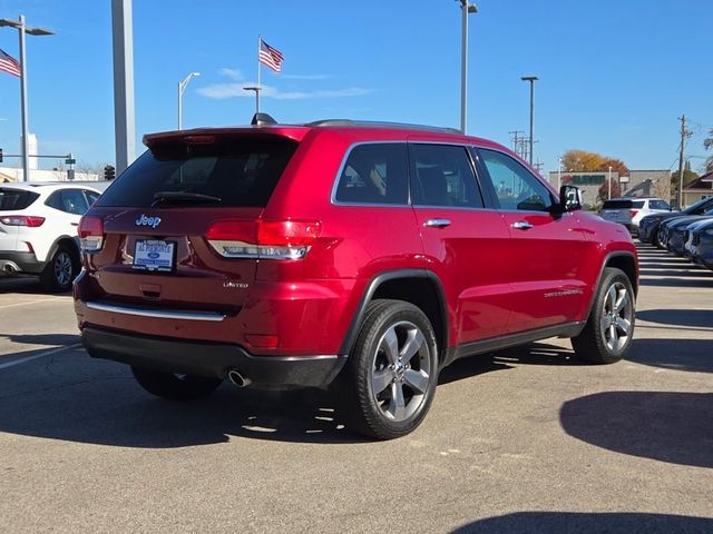
[[[159,144],[126,169],[95,206],[265,207],[296,147],[284,138]]]

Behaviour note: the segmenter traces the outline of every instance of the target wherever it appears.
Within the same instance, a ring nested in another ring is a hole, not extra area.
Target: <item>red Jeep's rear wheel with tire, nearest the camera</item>
[[[353,429],[393,439],[416,429],[438,383],[436,335],[428,317],[402,300],[374,300],[346,368]]]

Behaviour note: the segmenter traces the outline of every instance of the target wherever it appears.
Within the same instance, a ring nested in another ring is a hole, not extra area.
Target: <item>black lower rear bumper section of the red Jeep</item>
[[[236,369],[255,386],[326,387],[346,356],[253,356],[237,345],[172,339],[84,328],[81,343],[95,358],[169,373],[225,378]]]

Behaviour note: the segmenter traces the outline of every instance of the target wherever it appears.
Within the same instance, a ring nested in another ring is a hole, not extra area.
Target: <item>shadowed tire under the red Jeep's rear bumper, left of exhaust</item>
[[[193,400],[206,397],[223,383],[219,378],[162,373],[134,366],[131,372],[144,389],[169,400]]]

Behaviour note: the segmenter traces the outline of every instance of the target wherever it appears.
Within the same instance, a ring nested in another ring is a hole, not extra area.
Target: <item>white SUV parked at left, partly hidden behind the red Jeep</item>
[[[77,227],[101,182],[0,184],[0,276],[36,275],[66,291],[81,263]]]

